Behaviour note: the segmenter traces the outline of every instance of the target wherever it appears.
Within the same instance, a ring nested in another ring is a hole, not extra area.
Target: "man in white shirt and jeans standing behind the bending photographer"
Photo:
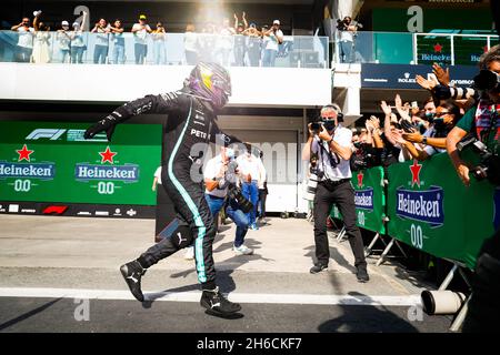
[[[247,151],[238,156],[238,169],[240,176],[242,178],[242,192],[243,196],[248,199],[253,209],[248,213],[250,227],[258,230],[256,222],[257,219],[257,203],[259,202],[259,186],[263,187],[266,181],[266,169],[260,158],[252,154],[252,148],[250,144],[246,144]]]

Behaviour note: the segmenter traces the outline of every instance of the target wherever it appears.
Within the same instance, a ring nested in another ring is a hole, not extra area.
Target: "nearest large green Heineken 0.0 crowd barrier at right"
[[[388,234],[473,268],[480,246],[494,232],[494,186],[471,178],[466,187],[447,153],[393,164],[388,174]]]

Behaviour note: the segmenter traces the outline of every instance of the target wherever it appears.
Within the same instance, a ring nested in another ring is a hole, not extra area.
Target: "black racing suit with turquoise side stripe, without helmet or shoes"
[[[223,140],[226,145],[240,141],[222,133],[216,123],[217,115],[211,105],[191,95],[187,88],[131,101],[118,108],[106,120],[114,119],[112,124],[116,124],[147,112],[168,113],[163,132],[161,182],[174,205],[179,226],[171,237],[148,248],[138,261],[147,268],[194,243],[198,280],[203,288],[214,288],[212,243],[217,230],[204,199],[203,180],[196,182],[190,175],[193,163],[199,163],[198,158],[201,156],[191,156],[191,148],[197,143],[206,143],[197,150],[204,154],[208,143],[214,143],[216,139]]]

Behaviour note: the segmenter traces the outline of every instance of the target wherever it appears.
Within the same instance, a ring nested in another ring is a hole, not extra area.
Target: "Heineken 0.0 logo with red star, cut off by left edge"
[[[16,192],[29,192],[38,184],[36,181],[53,180],[56,176],[56,164],[52,162],[34,161],[34,150],[30,150],[27,144],[16,150],[17,156],[13,162],[0,161],[0,180],[13,179],[8,184]]]

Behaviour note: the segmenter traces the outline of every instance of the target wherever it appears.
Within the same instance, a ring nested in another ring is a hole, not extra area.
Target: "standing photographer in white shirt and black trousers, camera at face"
[[[339,124],[342,113],[337,104],[321,109],[321,122],[309,124],[309,139],[302,150],[302,160],[310,160],[311,152],[318,154],[318,189],[314,196],[314,243],[317,262],[312,274],[328,267],[330,248],[327,235],[327,217],[336,203],[343,216],[346,233],[354,254],[354,266],[359,282],[368,282],[361,232],[356,225],[354,189],[351,184],[349,160],[352,154],[352,132]]]

